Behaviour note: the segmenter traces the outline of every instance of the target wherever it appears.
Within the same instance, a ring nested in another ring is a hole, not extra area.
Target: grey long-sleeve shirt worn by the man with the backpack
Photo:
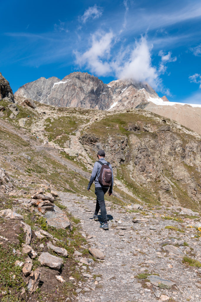
[[[99,159],[103,164],[107,164],[107,161],[104,159],[104,158],[100,158]],[[100,182],[98,181],[98,178],[100,176],[100,172],[101,172],[101,164],[99,162],[95,162],[94,164],[94,168],[92,170],[92,173],[91,173],[91,178],[90,178],[90,181],[89,181],[89,184],[88,184],[88,187],[87,187],[87,190],[89,190],[91,188],[91,185],[95,179],[95,188],[110,188],[110,193],[112,193],[112,188],[113,188],[113,182],[114,182],[114,178],[113,178],[113,170],[112,170],[112,166],[111,164],[109,165],[111,171],[112,171],[112,183],[111,183],[111,186],[110,187],[103,187],[101,186]]]

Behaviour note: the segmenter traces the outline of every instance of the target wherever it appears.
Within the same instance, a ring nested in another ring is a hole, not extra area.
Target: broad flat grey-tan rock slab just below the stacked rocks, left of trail
[[[56,229],[70,229],[71,230],[71,223],[66,214],[59,209],[55,205],[54,211],[47,211],[44,215],[46,218],[47,224],[49,226],[56,227]]]

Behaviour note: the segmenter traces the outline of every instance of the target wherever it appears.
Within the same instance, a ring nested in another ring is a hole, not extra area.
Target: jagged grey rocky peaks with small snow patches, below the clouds
[[[72,72],[62,80],[56,77],[40,78],[20,87],[15,96],[59,107],[101,110],[136,107],[142,101],[147,102],[149,97],[158,98],[157,93],[147,83],[116,80],[104,84],[87,72]]]

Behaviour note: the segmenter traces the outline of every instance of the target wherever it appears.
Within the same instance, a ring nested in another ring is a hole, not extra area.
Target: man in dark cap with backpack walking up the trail
[[[105,158],[104,150],[99,150],[97,153],[98,161],[95,162],[91,173],[91,178],[87,187],[90,191],[91,185],[95,179],[95,194],[96,194],[96,209],[94,213],[94,220],[98,220],[98,212],[101,209],[103,223],[100,229],[109,230],[107,223],[107,212],[105,208],[104,194],[108,191],[109,196],[112,195],[113,188],[113,170],[109,162]]]

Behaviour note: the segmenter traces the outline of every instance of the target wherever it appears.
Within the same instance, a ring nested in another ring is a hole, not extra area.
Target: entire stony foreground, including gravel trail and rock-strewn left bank
[[[200,300],[198,212],[111,197],[104,231],[94,198],[0,179],[2,301]]]

